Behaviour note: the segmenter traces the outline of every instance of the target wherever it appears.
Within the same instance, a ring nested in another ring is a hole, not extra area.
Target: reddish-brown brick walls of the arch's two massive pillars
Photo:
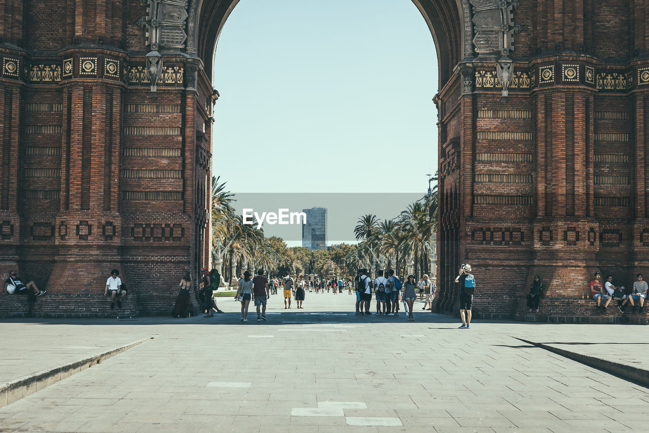
[[[506,100],[458,2],[418,3],[440,63],[437,309],[471,263],[477,317],[528,320],[535,274],[552,317],[589,316],[595,270],[630,286],[649,265],[649,0],[520,0]],[[52,295],[0,294],[0,315],[107,314],[112,268],[130,310],[166,314],[210,263],[212,59],[233,4],[203,1],[190,45],[160,49],[153,98],[140,0],[3,3],[0,277]]]

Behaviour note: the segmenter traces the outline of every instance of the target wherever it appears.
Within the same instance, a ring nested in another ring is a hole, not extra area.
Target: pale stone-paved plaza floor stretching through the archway
[[[646,328],[354,315],[355,296],[213,319],[5,319],[0,384],[136,343],[0,408],[0,431],[620,432],[649,389],[537,347],[646,367]],[[374,302],[372,307],[374,308]],[[351,311],[351,312],[349,312]],[[530,344],[526,343],[529,341]]]

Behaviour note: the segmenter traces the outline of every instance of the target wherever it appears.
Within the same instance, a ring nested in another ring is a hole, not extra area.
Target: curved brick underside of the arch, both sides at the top
[[[221,30],[239,1],[199,0],[197,53],[208,77],[212,77],[215,49]],[[435,40],[441,87],[448,82],[453,69],[465,54],[463,7],[469,6],[467,1],[461,0],[413,0],[413,3],[421,12]]]

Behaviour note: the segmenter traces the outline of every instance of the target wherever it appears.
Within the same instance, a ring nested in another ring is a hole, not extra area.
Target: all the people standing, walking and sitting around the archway
[[[471,265],[461,265],[455,279],[455,282],[459,284],[459,313],[462,320],[460,328],[467,329],[471,328],[471,307],[476,287],[471,271]],[[413,315],[415,300],[424,301],[422,310],[432,311],[437,292],[437,285],[429,278],[428,274],[423,274],[418,280],[413,274],[410,274],[402,283],[392,269],[379,270],[374,276],[371,276],[367,269],[360,269],[356,272],[355,278],[343,276],[304,278],[303,275],[300,275],[295,279],[289,274],[284,277],[268,278],[264,274],[264,270],[259,269],[254,278],[249,271],[239,277],[235,298],[241,302],[241,321],[243,322],[248,320],[250,302],[254,302],[256,307],[257,320],[265,321],[267,300],[271,295],[277,295],[279,287],[282,287],[285,309],[291,308],[292,301],[295,301],[295,308],[303,309],[304,298],[308,292],[323,294],[326,291],[326,293],[339,295],[347,291],[348,295],[352,295],[353,291],[356,293],[357,315],[371,315],[370,304],[374,299],[375,315],[398,316],[400,303],[402,303],[408,321],[415,320]],[[201,282],[195,290],[201,309],[206,313],[205,317],[214,317],[214,312],[223,313],[217,307],[214,297],[214,291],[219,289],[220,283],[221,275],[217,269],[212,269],[209,272],[206,268],[202,269]],[[185,272],[178,287],[179,292],[173,308],[173,316],[188,317],[190,293],[193,288],[190,272]],[[624,313],[626,306],[631,304],[634,314],[644,314],[644,301],[648,289],[647,282],[644,281],[643,274],[640,273],[636,275],[636,281],[633,282],[631,290],[627,290],[624,286],[615,285],[613,276],[607,275],[606,281],[603,281],[602,274],[595,272],[593,280],[590,282],[590,291],[587,296],[582,296],[582,298],[592,298],[596,302],[596,311],[601,313],[606,313],[609,304],[616,301],[620,313]],[[5,280],[5,291],[8,295],[29,295],[32,300],[47,292],[45,289],[38,289],[32,280],[27,283],[23,282],[23,279],[19,278],[15,271],[9,272],[8,278]],[[119,270],[113,269],[104,287],[104,296],[110,298],[110,309],[114,309],[116,304],[117,308],[121,309],[121,303],[127,295],[128,289],[119,278]],[[539,304],[544,297],[543,281],[541,276],[536,275],[526,296],[528,311],[539,313]]]

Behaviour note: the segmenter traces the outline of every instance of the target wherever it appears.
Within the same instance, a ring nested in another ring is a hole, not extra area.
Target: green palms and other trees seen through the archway
[[[354,228],[358,244],[312,252],[301,246],[288,248],[279,237],[265,237],[256,224],[243,224],[232,206],[234,194],[225,185],[220,183],[220,177],[212,177],[212,267],[222,261],[220,270],[225,281],[232,278],[233,271],[239,275],[245,269],[260,267],[271,275],[324,277],[353,276],[360,267],[374,271],[393,268],[403,276],[408,261],[414,261],[415,274],[430,272],[437,231],[436,187],[395,218],[380,220],[372,214],[360,217]]]

